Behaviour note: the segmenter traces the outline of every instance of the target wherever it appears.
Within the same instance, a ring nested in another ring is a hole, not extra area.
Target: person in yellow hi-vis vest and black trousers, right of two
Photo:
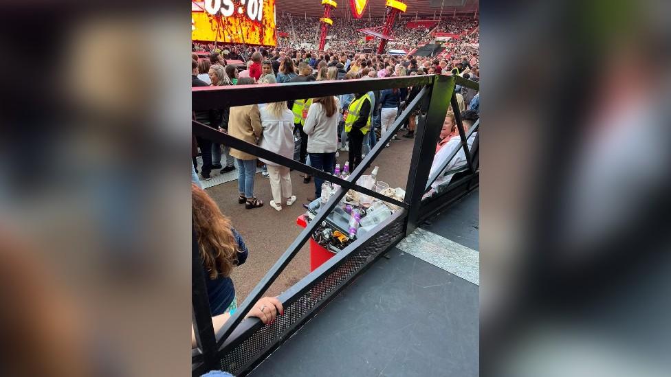
[[[349,168],[353,171],[362,161],[362,146],[371,128],[373,104],[368,93],[357,93],[347,108],[345,131],[349,137]]]

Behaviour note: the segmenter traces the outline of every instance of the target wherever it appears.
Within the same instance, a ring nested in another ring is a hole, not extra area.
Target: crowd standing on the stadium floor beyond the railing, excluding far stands
[[[315,80],[365,80],[423,74],[461,75],[470,80],[479,81],[480,76],[476,53],[456,57],[454,60],[445,60],[421,56],[348,54],[345,51],[319,53],[306,49],[248,48],[250,51],[243,47],[245,54],[251,52],[247,64],[248,69],[242,71],[239,67],[227,65],[219,48],[211,52],[209,59],[198,61],[197,56],[194,56],[192,85],[203,87],[233,84],[283,84]],[[479,95],[470,89],[461,87],[458,89],[459,102],[463,103],[460,110],[474,109],[477,111]],[[333,169],[335,163],[333,159],[338,153],[338,145],[341,150],[349,152],[349,165],[351,169],[354,169],[375,146],[377,139],[386,133],[388,126],[391,126],[401,109],[410,103],[416,93],[417,90],[413,88],[400,88],[391,93],[382,91],[340,95],[333,103],[328,99],[290,101],[284,104],[285,111],[282,112],[280,111],[282,106],[278,107],[278,104],[259,104],[199,111],[194,116],[203,124],[228,132],[252,144],[259,144],[259,141],[263,139],[267,149],[274,149],[274,152],[289,158],[294,157],[294,134],[297,137],[300,135],[300,152],[296,159],[303,163],[309,162],[315,168],[329,172]],[[367,96],[369,101],[359,103],[362,95]],[[363,106],[362,109],[358,109],[357,113],[365,110],[371,116],[371,122],[361,124],[363,117],[352,119],[355,129],[351,130],[347,124],[347,113],[351,111],[350,107],[353,102],[356,102],[358,106]],[[324,114],[328,116],[325,117]],[[414,123],[414,117],[410,117],[406,137],[414,136]],[[329,124],[330,128],[328,131],[320,130],[319,124]],[[281,127],[283,132],[276,130],[276,127]],[[362,128],[362,130],[358,131],[356,128]],[[287,132],[289,129],[291,133]],[[262,135],[265,137],[262,138]],[[267,135],[273,136],[268,137]],[[198,150],[203,160],[200,167],[200,179],[209,180],[212,170],[221,170],[221,174],[237,170],[239,203],[244,203],[248,209],[264,205],[264,201],[254,195],[256,157],[196,137],[193,142],[194,170],[192,172],[195,182],[199,182],[197,177],[199,166],[195,159]],[[296,198],[292,195],[288,171],[276,168],[269,161],[261,161],[258,164],[265,164],[261,175],[270,178],[274,196],[270,203],[271,207],[281,210],[283,203],[293,204]],[[310,180],[310,176],[304,177],[305,183],[309,183]],[[320,190],[320,181],[316,180],[316,196],[320,194]]]

